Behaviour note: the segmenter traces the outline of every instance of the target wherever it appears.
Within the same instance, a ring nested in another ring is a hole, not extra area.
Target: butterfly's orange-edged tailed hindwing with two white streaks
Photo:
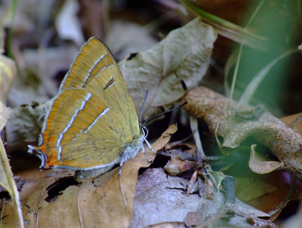
[[[86,89],[67,89],[54,99],[37,147],[47,155],[46,168],[96,167],[123,152],[122,146],[132,139],[127,117],[106,103]],[[86,151],[92,152],[87,156]]]

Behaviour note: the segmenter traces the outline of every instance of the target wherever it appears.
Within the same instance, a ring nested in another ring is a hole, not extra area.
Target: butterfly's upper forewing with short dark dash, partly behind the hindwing
[[[137,114],[126,83],[109,49],[98,38],[90,38],[81,48],[64,78],[60,91],[85,88],[127,116],[133,134],[139,133]]]

